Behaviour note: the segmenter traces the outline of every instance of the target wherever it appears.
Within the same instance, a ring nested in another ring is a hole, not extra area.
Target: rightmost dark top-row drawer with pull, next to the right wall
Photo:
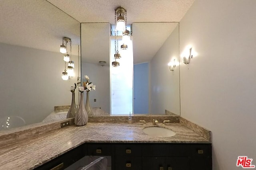
[[[192,156],[211,156],[211,145],[191,145],[190,153]]]

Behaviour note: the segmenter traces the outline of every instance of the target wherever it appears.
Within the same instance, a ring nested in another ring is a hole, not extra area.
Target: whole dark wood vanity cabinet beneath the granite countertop
[[[64,169],[83,156],[111,156],[112,170],[212,170],[211,144],[84,143],[40,166]]]

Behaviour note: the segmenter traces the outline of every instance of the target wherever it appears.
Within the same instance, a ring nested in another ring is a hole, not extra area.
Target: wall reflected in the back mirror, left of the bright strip
[[[99,64],[82,63],[82,79],[88,75],[90,82],[96,85],[96,90],[89,92],[91,107],[100,107],[110,113],[110,91],[109,91],[109,66],[100,66]],[[94,102],[96,99],[96,102]],[[84,94],[84,104],[86,95]]]

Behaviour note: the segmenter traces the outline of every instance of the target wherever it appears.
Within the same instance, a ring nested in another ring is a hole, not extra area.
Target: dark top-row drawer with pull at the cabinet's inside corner
[[[88,145],[88,155],[111,155],[111,145],[110,144],[89,144]]]

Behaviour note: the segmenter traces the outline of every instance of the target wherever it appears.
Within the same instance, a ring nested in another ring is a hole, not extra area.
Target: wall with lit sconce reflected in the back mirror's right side
[[[180,115],[179,64],[170,71],[168,63],[179,57],[179,26],[166,39],[150,61],[150,113],[163,114],[165,109]]]

